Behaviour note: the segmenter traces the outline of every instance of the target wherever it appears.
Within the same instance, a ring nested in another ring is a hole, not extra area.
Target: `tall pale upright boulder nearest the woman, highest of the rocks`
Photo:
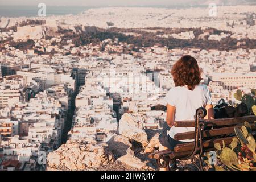
[[[119,134],[141,143],[143,147],[148,143],[142,122],[137,121],[131,114],[125,113],[122,115],[118,131]]]

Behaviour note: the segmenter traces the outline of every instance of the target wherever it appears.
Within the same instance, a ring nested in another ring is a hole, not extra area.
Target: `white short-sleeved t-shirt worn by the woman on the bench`
[[[212,96],[207,85],[197,85],[194,90],[189,90],[187,86],[177,86],[169,90],[164,97],[163,105],[175,106],[175,121],[194,120],[196,109],[212,104]],[[194,127],[175,127],[167,130],[171,138],[177,133],[195,131]],[[181,140],[191,142],[193,140]]]

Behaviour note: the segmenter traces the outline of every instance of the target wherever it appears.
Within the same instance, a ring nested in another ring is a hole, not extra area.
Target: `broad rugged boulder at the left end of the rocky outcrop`
[[[90,170],[114,161],[105,146],[68,141],[47,155],[50,169]]]

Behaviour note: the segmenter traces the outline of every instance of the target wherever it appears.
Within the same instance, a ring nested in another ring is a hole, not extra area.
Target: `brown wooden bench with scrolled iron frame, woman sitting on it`
[[[169,170],[177,169],[175,165],[176,159],[190,159],[199,171],[203,171],[202,157],[204,152],[215,151],[214,144],[220,143],[222,146],[223,140],[226,145],[230,144],[232,138],[236,135],[234,127],[241,128],[244,122],[249,122],[251,129],[254,131],[253,133],[255,133],[255,115],[240,118],[204,120],[203,118],[206,114],[207,111],[202,107],[196,110],[195,121],[176,121],[174,123],[175,127],[195,127],[195,131],[178,133],[174,136],[174,139],[195,139],[194,142],[178,144],[173,151],[164,150],[151,153],[149,158],[156,159],[159,168],[167,168]],[[197,154],[198,157],[195,156]],[[172,166],[172,168],[169,168],[169,166]]]

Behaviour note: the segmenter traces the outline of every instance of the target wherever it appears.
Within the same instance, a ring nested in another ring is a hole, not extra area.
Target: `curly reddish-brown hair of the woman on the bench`
[[[189,55],[181,57],[172,67],[171,73],[175,86],[187,85],[189,90],[193,90],[202,80],[196,59]]]

